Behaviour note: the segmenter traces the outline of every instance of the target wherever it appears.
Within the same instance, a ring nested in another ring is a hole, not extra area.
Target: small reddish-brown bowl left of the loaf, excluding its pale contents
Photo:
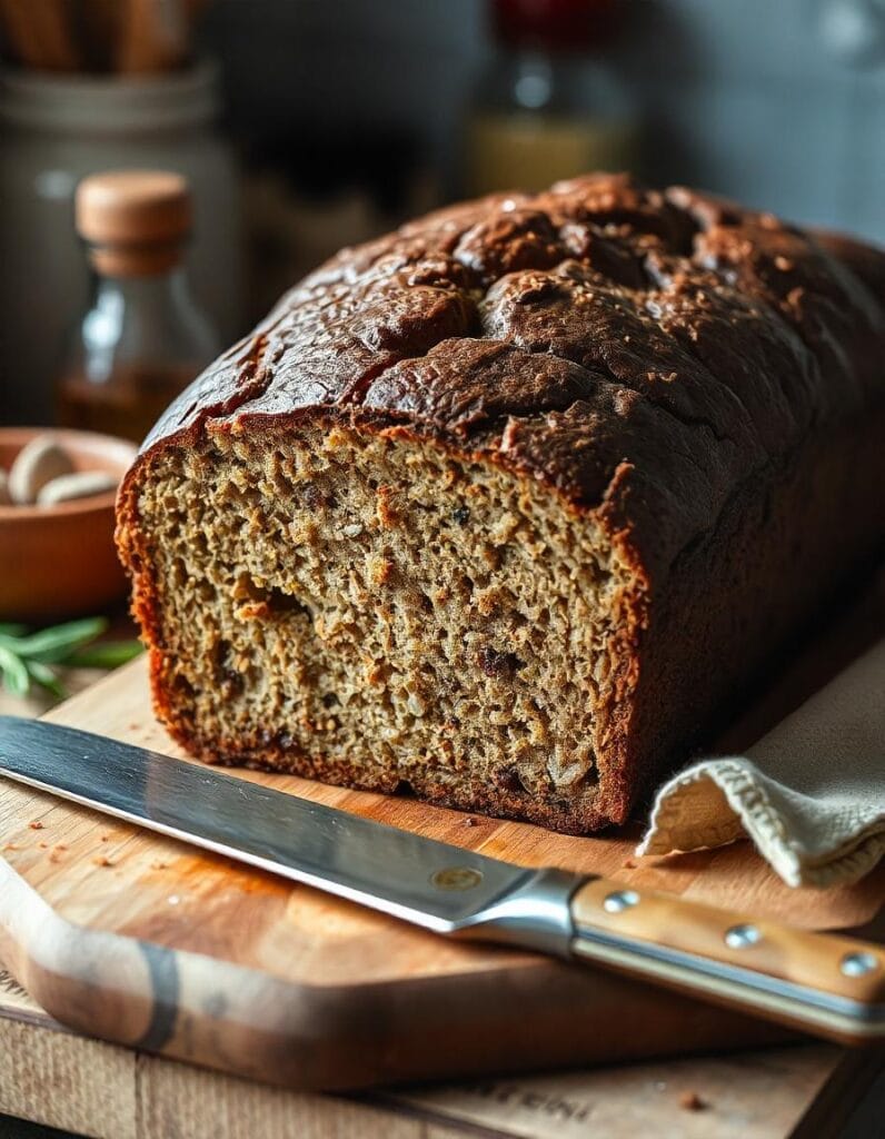
[[[51,428],[0,427],[0,467],[7,470],[25,443]],[[51,434],[77,470],[122,478],[137,448],[112,435],[82,431]],[[114,549],[115,491],[57,506],[0,506],[0,621],[42,623],[100,613],[118,600],[126,581]]]

